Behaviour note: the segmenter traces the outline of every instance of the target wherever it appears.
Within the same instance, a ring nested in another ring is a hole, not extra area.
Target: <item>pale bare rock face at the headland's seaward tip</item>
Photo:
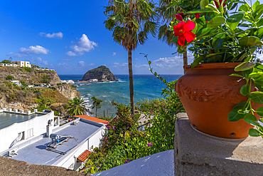
[[[71,84],[62,84],[59,86],[55,86],[55,88],[68,99],[73,99],[76,97],[80,98],[80,93],[77,92],[77,87]]]

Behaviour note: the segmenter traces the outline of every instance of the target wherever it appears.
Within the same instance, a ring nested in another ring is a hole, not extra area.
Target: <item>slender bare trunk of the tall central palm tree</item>
[[[132,76],[132,49],[128,50],[128,62],[129,62],[129,98],[131,102],[132,115],[134,115],[134,79]]]

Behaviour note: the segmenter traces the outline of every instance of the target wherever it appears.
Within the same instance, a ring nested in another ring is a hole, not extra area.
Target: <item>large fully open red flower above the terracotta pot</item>
[[[185,46],[185,40],[190,43],[195,39],[195,33],[191,32],[195,29],[193,21],[182,21],[173,27],[174,36],[178,36],[178,45]]]

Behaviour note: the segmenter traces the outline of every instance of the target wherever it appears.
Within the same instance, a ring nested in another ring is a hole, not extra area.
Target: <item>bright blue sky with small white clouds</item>
[[[0,61],[30,61],[58,74],[84,74],[102,65],[128,74],[127,51],[104,27],[104,6],[107,1],[1,1]],[[139,53],[148,54],[159,74],[183,74],[183,58],[172,55],[175,51],[149,37],[133,51],[134,74],[150,74]]]

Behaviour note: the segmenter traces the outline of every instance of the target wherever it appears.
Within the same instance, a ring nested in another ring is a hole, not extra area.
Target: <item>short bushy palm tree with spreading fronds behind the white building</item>
[[[67,115],[73,117],[74,115],[83,115],[87,112],[87,108],[85,107],[87,102],[84,101],[84,98],[74,98],[73,100],[68,100],[68,105],[66,106]]]

